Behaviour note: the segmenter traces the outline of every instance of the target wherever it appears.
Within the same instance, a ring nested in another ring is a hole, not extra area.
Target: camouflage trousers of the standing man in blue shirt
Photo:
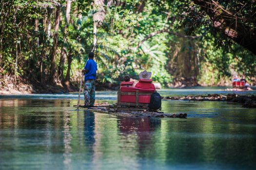
[[[84,104],[85,105],[94,105],[95,102],[95,80],[87,80],[84,84]]]

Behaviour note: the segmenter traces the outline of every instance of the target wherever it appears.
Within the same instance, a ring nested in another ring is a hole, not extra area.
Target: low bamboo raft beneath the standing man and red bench
[[[77,105],[74,105],[77,107]],[[163,113],[159,111],[148,111],[147,107],[134,107],[134,106],[125,106],[120,107],[116,104],[105,103],[95,103],[93,107],[86,107],[84,105],[79,105],[80,108],[85,110],[95,111],[99,113],[106,113],[122,117],[134,117],[134,118],[187,118],[186,113]]]

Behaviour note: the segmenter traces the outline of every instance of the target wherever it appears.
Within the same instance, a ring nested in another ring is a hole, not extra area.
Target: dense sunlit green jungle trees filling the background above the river
[[[163,86],[256,79],[256,0],[1,0],[0,87],[71,91],[94,50],[98,85],[152,71]]]

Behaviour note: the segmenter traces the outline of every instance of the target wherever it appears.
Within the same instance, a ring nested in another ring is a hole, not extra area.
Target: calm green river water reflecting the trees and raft
[[[227,94],[218,88],[159,93]],[[76,111],[77,97],[0,96],[0,169],[256,169],[256,109],[166,100],[162,111],[188,119],[122,118]],[[96,98],[115,103],[116,92]]]

